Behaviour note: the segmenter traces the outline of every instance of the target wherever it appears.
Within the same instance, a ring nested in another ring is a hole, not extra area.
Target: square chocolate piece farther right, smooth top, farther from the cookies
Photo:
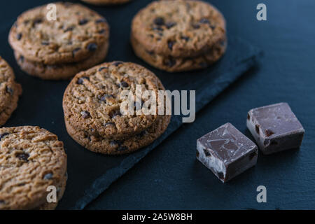
[[[264,154],[299,148],[302,144],[304,128],[287,103],[251,109],[246,125]]]

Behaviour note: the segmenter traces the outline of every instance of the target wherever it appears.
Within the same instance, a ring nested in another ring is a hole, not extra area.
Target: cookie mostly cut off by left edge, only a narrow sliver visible
[[[18,106],[18,98],[22,94],[22,87],[15,83],[13,70],[0,57],[0,126],[6,123]]]

